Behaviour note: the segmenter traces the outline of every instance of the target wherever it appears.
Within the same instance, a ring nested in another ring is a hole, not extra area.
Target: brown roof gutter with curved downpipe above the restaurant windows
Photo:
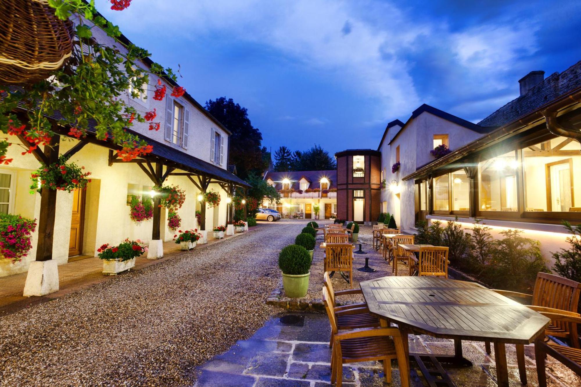
[[[526,114],[525,116],[508,123],[505,126],[501,126],[498,129],[493,130],[489,134],[485,134],[482,137],[470,142],[467,145],[462,146],[456,150],[453,150],[446,156],[440,157],[440,159],[434,160],[432,163],[425,167],[421,167],[412,174],[407,175],[401,180],[407,181],[412,180],[422,175],[428,174],[429,172],[437,169],[437,167],[442,167],[446,164],[450,164],[461,157],[467,155],[475,150],[486,148],[487,146],[496,144],[503,141],[505,138],[511,135],[518,134],[519,132],[525,131],[526,127],[536,121],[547,120],[548,130],[555,135],[574,138],[581,142],[581,131],[576,130],[569,126],[563,126],[557,119],[557,111],[563,109],[566,106],[573,105],[574,103],[581,102],[581,87],[576,88],[570,94],[555,100],[554,102],[547,103],[541,106],[539,109],[532,113]],[[547,114],[548,119],[544,114]],[[551,122],[551,123],[550,123]],[[560,134],[562,133],[562,134]]]

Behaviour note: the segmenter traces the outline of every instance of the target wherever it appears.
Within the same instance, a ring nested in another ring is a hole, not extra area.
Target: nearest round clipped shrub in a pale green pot
[[[310,268],[313,259],[303,246],[288,245],[278,255],[282,271],[282,286],[290,298],[304,297],[309,290]]]

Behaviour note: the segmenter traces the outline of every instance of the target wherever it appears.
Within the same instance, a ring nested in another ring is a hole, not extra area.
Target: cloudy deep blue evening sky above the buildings
[[[478,122],[529,71],[581,60],[580,1],[133,0],[98,9],[200,103],[248,108],[263,145],[376,148],[428,103]],[[356,140],[356,141],[354,141]]]

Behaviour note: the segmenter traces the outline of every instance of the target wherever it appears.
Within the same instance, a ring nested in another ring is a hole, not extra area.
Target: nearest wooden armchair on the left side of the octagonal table
[[[331,354],[331,383],[337,382],[337,387],[342,386],[343,364],[359,363],[361,361],[379,360],[383,363],[383,374],[388,383],[392,382],[392,359],[397,360],[402,386],[410,385],[410,370],[407,363],[407,355],[403,345],[403,338],[398,328],[367,328],[357,331],[339,333],[339,329],[345,329],[339,324],[338,317],[342,312],[335,313],[329,292],[323,288],[323,303],[331,324],[331,336],[333,337]],[[350,310],[352,312],[352,310]],[[347,328],[349,329],[349,328]],[[407,338],[405,338],[407,340]]]

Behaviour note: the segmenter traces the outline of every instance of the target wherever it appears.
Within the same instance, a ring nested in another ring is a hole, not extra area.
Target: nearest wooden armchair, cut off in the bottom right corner
[[[562,311],[537,311],[543,316],[550,318],[551,321],[558,321],[562,325],[581,324],[581,317],[579,317],[578,313],[575,313],[577,316],[572,316],[572,313],[570,312],[561,313]],[[539,379],[539,387],[547,387],[547,373],[545,366],[545,358],[547,355],[554,357],[554,359],[557,359],[566,367],[568,367],[569,370],[575,372],[578,375],[581,375],[581,349],[567,347],[557,343],[544,342],[543,338],[539,338],[537,341],[535,341],[535,359],[537,362],[537,378]],[[520,368],[521,367],[519,364],[519,371]],[[524,370],[524,359],[522,368]],[[521,371],[521,374],[522,372],[523,371]],[[526,379],[523,384],[526,384]]]

